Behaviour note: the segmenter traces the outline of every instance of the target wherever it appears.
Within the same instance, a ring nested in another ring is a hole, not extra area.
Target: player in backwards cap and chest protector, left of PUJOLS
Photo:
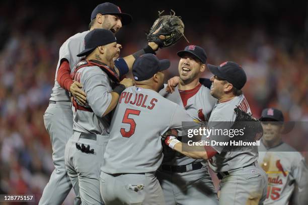
[[[86,56],[72,73],[75,81],[83,84],[87,104],[73,101],[73,134],[65,147],[65,167],[74,190],[80,190],[83,204],[101,204],[100,166],[104,147],[108,142],[110,113],[121,92],[133,85],[133,80],[119,83],[119,72],[113,58],[119,53],[116,38],[106,29],[94,29],[85,36]],[[115,70],[114,70],[115,69]],[[77,178],[78,177],[78,178]]]

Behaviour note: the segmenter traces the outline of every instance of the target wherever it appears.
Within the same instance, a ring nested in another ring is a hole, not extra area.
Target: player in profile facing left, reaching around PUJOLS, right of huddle
[[[251,112],[241,91],[246,83],[246,74],[242,67],[230,61],[219,66],[208,64],[208,68],[214,74],[210,93],[218,100],[211,112],[208,127],[229,130],[237,118],[236,107],[243,110],[243,113]],[[208,139],[220,140],[218,142],[222,141],[221,143],[230,140],[228,136],[215,138],[213,134]],[[182,150],[187,144],[181,143],[174,136],[170,136],[165,142],[173,150],[193,159],[209,159],[210,167],[221,179],[219,204],[262,204],[265,200],[267,181],[265,172],[257,163],[256,146],[248,146],[241,152],[231,152],[224,150],[225,144],[209,144],[204,146],[203,151],[195,152],[196,150]]]

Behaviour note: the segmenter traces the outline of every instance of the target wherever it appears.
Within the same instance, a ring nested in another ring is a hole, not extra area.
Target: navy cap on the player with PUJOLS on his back
[[[159,60],[156,55],[147,53],[137,58],[132,67],[132,73],[135,81],[145,81],[154,74],[165,71],[170,67],[170,60]]]

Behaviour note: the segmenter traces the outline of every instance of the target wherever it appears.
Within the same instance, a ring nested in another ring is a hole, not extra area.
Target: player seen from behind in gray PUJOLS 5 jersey
[[[191,120],[182,106],[158,91],[169,60],[144,54],[133,65],[136,86],[125,89],[115,109],[101,172],[101,195],[108,204],[165,204],[155,176],[163,160],[161,135]],[[149,120],[148,120],[149,119]]]

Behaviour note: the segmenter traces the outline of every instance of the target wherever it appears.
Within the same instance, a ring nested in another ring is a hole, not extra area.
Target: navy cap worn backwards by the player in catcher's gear
[[[117,42],[117,39],[111,31],[107,29],[93,29],[85,36],[85,49],[77,56],[88,55],[98,46],[113,42]]]

